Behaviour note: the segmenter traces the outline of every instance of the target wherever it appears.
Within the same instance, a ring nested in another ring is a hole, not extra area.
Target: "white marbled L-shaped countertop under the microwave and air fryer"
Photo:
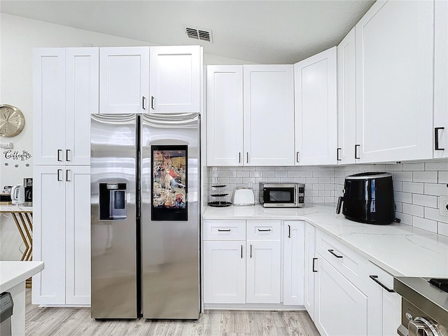
[[[400,223],[349,221],[335,213],[334,204],[295,209],[207,207],[202,218],[307,221],[393,276],[448,278],[448,237]]]

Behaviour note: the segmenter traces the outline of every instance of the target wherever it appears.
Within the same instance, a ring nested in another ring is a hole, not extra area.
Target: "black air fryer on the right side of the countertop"
[[[346,176],[344,196],[339,197],[336,213],[360,223],[390,224],[395,221],[392,175],[361,173]]]

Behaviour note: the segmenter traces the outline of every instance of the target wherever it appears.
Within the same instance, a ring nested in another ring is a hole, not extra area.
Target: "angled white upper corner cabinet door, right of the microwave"
[[[334,165],[336,47],[294,64],[295,165]]]

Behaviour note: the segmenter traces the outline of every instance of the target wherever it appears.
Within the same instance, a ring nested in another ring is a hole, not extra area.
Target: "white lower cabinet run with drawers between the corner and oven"
[[[393,276],[320,230],[311,241],[313,229],[305,228],[305,308],[321,335],[396,335],[401,302]]]

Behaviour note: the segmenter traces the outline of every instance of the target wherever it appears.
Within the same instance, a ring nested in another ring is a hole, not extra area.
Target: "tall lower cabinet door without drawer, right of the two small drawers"
[[[304,222],[283,227],[283,304],[304,304]]]

